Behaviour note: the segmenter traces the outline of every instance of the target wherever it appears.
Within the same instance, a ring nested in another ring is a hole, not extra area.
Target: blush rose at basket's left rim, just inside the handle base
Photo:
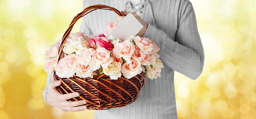
[[[68,55],[54,66],[56,74],[61,78],[69,78],[75,74],[77,58],[75,54]]]

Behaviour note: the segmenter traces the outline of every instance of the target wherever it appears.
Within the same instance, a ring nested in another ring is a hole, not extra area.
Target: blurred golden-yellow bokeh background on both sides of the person
[[[179,119],[256,119],[256,0],[190,0],[205,50],[201,76],[175,73]],[[0,0],[0,119],[93,119],[44,103],[44,53],[83,0]],[[79,31],[81,20],[75,25]]]

